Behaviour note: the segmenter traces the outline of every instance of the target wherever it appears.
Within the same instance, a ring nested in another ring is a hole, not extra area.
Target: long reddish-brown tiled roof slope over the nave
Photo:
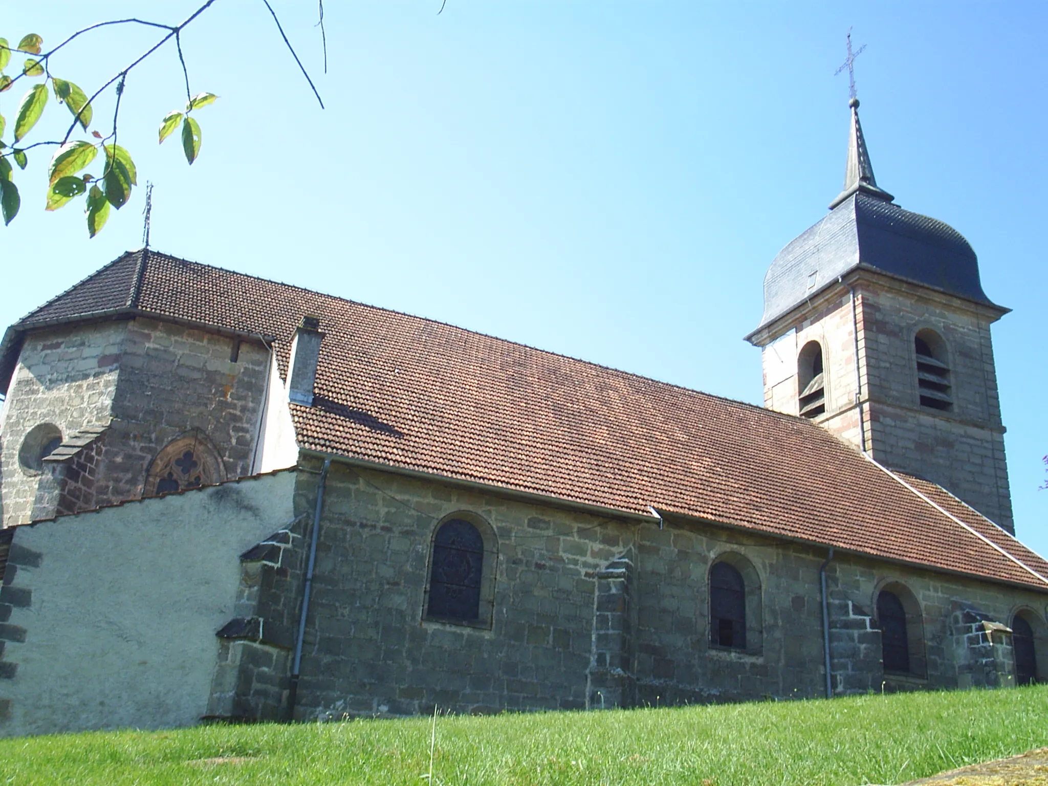
[[[127,279],[111,278],[115,302]],[[135,301],[158,316],[277,336],[282,373],[296,326],[304,314],[320,316],[327,335],[314,405],[291,405],[307,450],[631,512],[652,505],[1048,589],[804,418],[155,252]],[[1048,576],[1048,563],[926,486]]]

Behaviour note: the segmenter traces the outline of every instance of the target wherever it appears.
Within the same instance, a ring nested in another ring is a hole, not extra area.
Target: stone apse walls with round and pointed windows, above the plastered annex
[[[155,492],[144,489],[150,463],[181,436],[217,456],[221,472],[208,481],[249,475],[268,369],[261,342],[155,320],[30,334],[0,431],[4,526]],[[19,463],[25,436],[48,422],[65,440],[104,433],[85,455],[27,471]]]

